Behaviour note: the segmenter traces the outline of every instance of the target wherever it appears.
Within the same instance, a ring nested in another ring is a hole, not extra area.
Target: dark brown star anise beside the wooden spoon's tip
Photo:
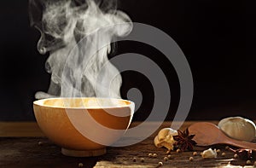
[[[173,139],[176,141],[174,146],[179,148],[180,150],[193,150],[193,146],[196,145],[196,142],[193,139],[195,135],[189,135],[189,129],[186,130],[177,130],[177,136],[172,136]]]

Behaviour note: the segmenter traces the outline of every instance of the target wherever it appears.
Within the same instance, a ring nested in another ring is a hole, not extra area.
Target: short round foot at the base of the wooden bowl
[[[99,148],[95,150],[72,150],[67,148],[61,148],[61,154],[73,157],[100,156],[102,154],[106,154],[106,152],[106,148]]]

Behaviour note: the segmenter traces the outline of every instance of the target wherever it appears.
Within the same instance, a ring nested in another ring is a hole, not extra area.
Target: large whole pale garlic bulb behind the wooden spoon
[[[241,117],[222,119],[219,121],[218,127],[227,136],[240,141],[252,142],[256,133],[253,121]]]

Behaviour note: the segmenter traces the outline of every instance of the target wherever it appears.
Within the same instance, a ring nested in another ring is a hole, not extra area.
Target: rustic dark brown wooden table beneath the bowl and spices
[[[181,130],[196,121],[187,121],[183,123]],[[217,123],[217,121],[211,121]],[[131,126],[139,123],[132,123]],[[163,127],[170,127],[172,122],[165,122]],[[148,123],[155,125],[154,122]],[[163,163],[162,167],[241,167],[246,165],[246,160],[233,159],[233,153],[226,150],[224,146],[216,146],[220,148],[221,153],[216,159],[202,159],[201,151],[206,148],[195,148],[198,153],[193,156],[192,152],[177,153],[171,152],[171,158],[164,160],[166,154],[165,148],[154,147],[154,132],[143,142],[122,148],[107,148],[108,153],[99,157],[74,158],[61,154],[61,148],[50,142],[37,123],[33,122],[0,122],[0,167],[159,167],[159,162]],[[40,142],[40,143],[38,143]],[[149,158],[148,154],[157,154],[156,158]],[[194,157],[193,161],[189,161],[189,157]],[[133,158],[137,158],[136,161]],[[144,162],[141,159],[144,159]],[[254,160],[251,165],[244,167],[253,167]],[[230,166],[232,164],[233,166]],[[240,166],[241,165],[241,166]]]

